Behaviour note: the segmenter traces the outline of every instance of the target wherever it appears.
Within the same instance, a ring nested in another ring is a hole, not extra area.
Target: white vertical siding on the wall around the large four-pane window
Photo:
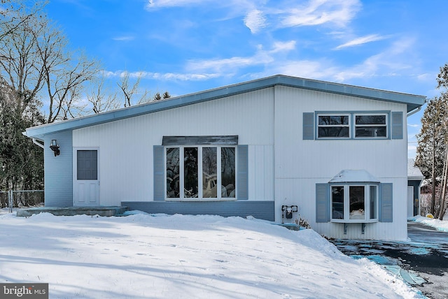
[[[241,196],[237,194],[238,200],[274,200],[272,90],[262,89],[76,129],[73,146],[101,149],[101,202],[120,205],[127,200],[165,200],[165,191],[159,193],[154,189],[159,183],[155,183],[158,180],[153,171],[158,161],[154,158],[157,153],[153,150],[158,150],[154,146],[162,144],[163,136],[238,135],[239,143],[246,145],[246,173],[250,174],[246,177],[246,190],[241,190]],[[164,163],[162,160],[161,165]],[[164,167],[160,169],[164,171]],[[160,183],[165,184],[163,175]]]

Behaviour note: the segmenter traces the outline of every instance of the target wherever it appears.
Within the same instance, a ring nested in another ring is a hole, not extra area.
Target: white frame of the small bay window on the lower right
[[[379,221],[379,185],[378,183],[356,183],[356,182],[349,182],[349,183],[335,183],[335,184],[329,184],[330,187],[330,222],[335,223],[373,223]],[[376,217],[373,219],[370,219],[370,187],[376,187],[376,198],[375,198],[375,209],[376,209]],[[332,210],[332,203],[333,203],[333,197],[332,197],[332,188],[333,187],[344,187],[344,218],[343,219],[336,219],[333,218],[333,210]],[[350,198],[349,198],[349,189],[350,187],[364,187],[364,219],[350,219]]]

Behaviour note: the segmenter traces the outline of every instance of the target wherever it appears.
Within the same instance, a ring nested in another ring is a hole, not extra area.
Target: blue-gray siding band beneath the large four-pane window
[[[248,217],[275,221],[274,201],[123,201],[129,210],[150,214],[212,214],[223,217]]]

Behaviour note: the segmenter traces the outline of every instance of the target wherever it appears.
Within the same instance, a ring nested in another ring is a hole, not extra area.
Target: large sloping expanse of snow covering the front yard
[[[25,282],[48,283],[50,298],[422,298],[311,229],[239,217],[0,210],[0,283]]]

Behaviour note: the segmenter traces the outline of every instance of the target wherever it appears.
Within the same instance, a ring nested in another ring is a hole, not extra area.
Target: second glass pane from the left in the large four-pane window
[[[185,147],[183,149],[184,197],[197,197],[197,191],[199,190],[197,174],[197,147]]]

